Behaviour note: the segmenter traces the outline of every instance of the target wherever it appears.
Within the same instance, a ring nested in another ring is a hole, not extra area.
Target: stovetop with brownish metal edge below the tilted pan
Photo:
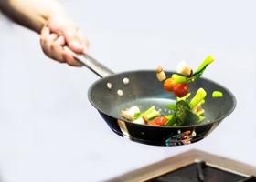
[[[256,167],[199,150],[189,150],[112,182],[256,182]]]

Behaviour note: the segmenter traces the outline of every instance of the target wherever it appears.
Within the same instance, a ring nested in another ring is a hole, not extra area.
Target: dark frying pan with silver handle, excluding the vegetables
[[[83,66],[101,77],[93,83],[88,91],[88,98],[110,126],[112,131],[132,141],[155,146],[181,146],[197,142],[219,125],[219,123],[234,110],[236,106],[235,96],[225,86],[206,78],[200,78],[190,85],[193,94],[203,87],[208,94],[214,90],[223,93],[221,98],[206,97],[204,109],[206,119],[203,123],[193,126],[147,126],[132,123],[120,116],[121,110],[130,106],[139,106],[145,110],[155,105],[161,108],[162,113],[168,114],[166,106],[174,103],[176,97],[165,92],[163,83],[159,82],[153,70],[136,70],[114,74],[112,70],[101,65],[89,55],[73,56]],[[174,72],[165,72],[171,76]],[[123,78],[129,78],[128,85],[123,84]],[[107,83],[112,84],[108,88]],[[123,96],[117,94],[117,90],[123,90]]]

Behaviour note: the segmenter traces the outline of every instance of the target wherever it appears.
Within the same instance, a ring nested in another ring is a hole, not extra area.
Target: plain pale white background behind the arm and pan
[[[112,133],[90,105],[98,79],[44,56],[38,35],[0,15],[0,180],[102,181],[197,148],[256,166],[255,1],[62,1],[84,28],[91,55],[115,72],[216,62],[205,77],[237,107],[206,139],[152,147]]]

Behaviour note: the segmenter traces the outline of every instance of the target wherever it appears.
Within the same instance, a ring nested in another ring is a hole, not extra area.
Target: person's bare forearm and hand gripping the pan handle
[[[0,9],[16,23],[40,34],[40,44],[47,56],[80,66],[63,46],[82,53],[87,51],[88,41],[57,0],[1,0]]]

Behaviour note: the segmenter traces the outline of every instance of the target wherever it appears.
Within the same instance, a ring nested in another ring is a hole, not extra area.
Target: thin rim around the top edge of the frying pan
[[[143,72],[152,72],[153,73],[154,72],[155,73],[155,70],[152,70],[152,69],[137,69],[137,70],[124,71],[124,72],[116,73],[116,74],[113,74],[113,75],[110,75],[110,76],[101,77],[100,79],[96,80],[93,84],[91,84],[91,86],[89,87],[88,92],[87,92],[88,100],[94,108],[96,108],[98,111],[101,111],[101,113],[103,113],[106,116],[111,116],[112,118],[115,118],[116,120],[122,120],[123,122],[128,123],[128,124],[133,124],[133,125],[138,125],[138,126],[149,126],[149,125],[144,125],[144,124],[132,123],[131,121],[128,121],[127,119],[124,119],[124,118],[120,119],[116,116],[112,116],[109,113],[106,113],[105,111],[103,111],[98,106],[96,106],[94,104],[94,102],[92,101],[92,99],[91,99],[91,92],[92,92],[91,90],[92,90],[92,88],[95,85],[97,85],[102,79],[107,79],[107,78],[110,78],[110,77],[113,77],[113,76],[128,74],[128,73],[132,73],[132,72],[141,72],[141,73],[143,73]],[[168,72],[168,73],[171,73],[171,74],[176,73],[174,70],[166,70],[165,72]],[[158,128],[160,127],[160,128],[166,128],[166,129],[168,129],[168,128],[181,128],[181,129],[183,129],[183,128],[198,127],[198,126],[208,126],[208,125],[212,125],[216,122],[220,122],[224,118],[228,117],[234,111],[234,109],[237,106],[237,99],[234,96],[234,94],[229,90],[229,88],[227,88],[226,86],[223,86],[222,84],[217,83],[216,81],[213,81],[213,80],[211,80],[209,78],[206,78],[204,76],[200,77],[200,79],[203,79],[203,80],[206,80],[206,81],[211,82],[213,84],[216,84],[216,85],[220,86],[221,88],[223,88],[226,92],[229,93],[229,95],[231,96],[232,101],[233,101],[233,106],[230,108],[229,112],[227,112],[223,116],[217,117],[213,121],[209,121],[208,123],[203,123],[203,124],[197,124],[197,125],[191,125],[191,126],[149,126],[149,127],[158,127]]]

